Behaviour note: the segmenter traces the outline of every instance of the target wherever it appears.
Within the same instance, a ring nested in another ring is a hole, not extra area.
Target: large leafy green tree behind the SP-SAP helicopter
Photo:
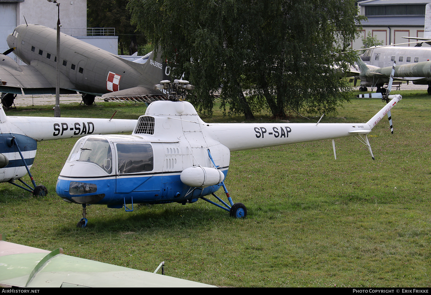
[[[287,113],[334,112],[347,99],[337,56],[357,35],[353,0],[130,0],[132,23],[186,72],[192,103],[211,112],[222,85],[232,113],[268,108]],[[244,95],[244,90],[247,95]]]

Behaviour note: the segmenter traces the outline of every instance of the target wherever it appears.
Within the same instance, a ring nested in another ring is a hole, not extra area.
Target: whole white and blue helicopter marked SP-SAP
[[[78,227],[87,225],[89,204],[131,211],[136,203],[202,199],[232,217],[246,217],[247,208],[234,204],[224,184],[232,151],[332,139],[335,156],[334,138],[356,136],[374,159],[367,134],[401,100],[400,95],[386,95],[386,106],[366,123],[209,124],[184,101],[186,91],[193,89],[187,81],[162,81],[154,87],[167,90],[169,99],[151,103],[131,135],[88,135],[69,154],[56,192],[68,203],[82,204]],[[228,202],[215,195],[220,187]],[[221,205],[206,198],[209,195]]]

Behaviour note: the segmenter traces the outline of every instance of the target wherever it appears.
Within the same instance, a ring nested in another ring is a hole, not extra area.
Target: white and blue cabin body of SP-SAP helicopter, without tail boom
[[[58,178],[57,194],[65,201],[108,207],[191,203],[211,195],[228,173],[230,151],[205,127],[189,103],[152,103],[132,135],[78,140]]]

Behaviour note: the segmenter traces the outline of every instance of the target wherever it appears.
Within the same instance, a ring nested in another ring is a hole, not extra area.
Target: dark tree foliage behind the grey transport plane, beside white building
[[[87,1],[87,22],[92,28],[115,28],[119,42],[119,54],[132,55],[138,44],[146,44],[144,34],[130,24],[131,14],[127,9],[129,0]]]

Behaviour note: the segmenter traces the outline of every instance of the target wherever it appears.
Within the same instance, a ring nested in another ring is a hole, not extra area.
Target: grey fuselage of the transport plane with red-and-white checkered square
[[[56,30],[42,25],[19,25],[8,36],[7,43],[11,48],[16,47],[16,56],[46,79],[44,82],[39,78],[38,82],[55,89]],[[66,34],[60,36],[59,62],[60,88],[93,95],[137,86],[152,88],[154,77],[145,70],[148,67],[153,67],[153,72],[160,72],[162,77],[160,63],[133,63]],[[7,86],[28,88],[10,83]]]

